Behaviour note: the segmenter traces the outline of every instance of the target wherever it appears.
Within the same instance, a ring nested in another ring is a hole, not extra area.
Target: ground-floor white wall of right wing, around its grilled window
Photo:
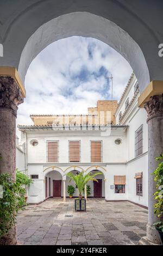
[[[128,200],[135,203],[148,206],[148,155],[139,157],[135,161],[127,164],[127,179],[128,179]],[[135,173],[143,173],[143,195],[136,196],[136,179]]]

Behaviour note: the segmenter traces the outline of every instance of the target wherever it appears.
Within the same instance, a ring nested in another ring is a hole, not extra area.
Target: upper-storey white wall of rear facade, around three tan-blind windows
[[[109,134],[109,133],[108,133]],[[64,135],[64,136],[63,136]],[[44,132],[38,134],[38,132],[27,133],[27,161],[28,163],[46,163],[47,161],[47,140],[59,141],[59,163],[68,163],[68,141],[79,140],[80,141],[80,162],[87,163],[91,160],[90,155],[90,142],[93,140],[101,140],[103,145],[103,162],[125,162],[126,161],[126,132],[123,130],[111,130],[110,136],[104,136],[104,133],[100,131],[69,131],[64,134],[58,131],[52,133]],[[120,145],[115,144],[115,139],[121,138],[122,143]],[[33,147],[30,144],[32,139],[37,139],[38,145]]]

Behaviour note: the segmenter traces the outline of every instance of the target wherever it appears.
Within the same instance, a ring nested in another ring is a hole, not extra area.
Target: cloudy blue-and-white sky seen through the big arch
[[[17,124],[33,124],[30,114],[86,114],[97,100],[111,99],[111,74],[118,100],[131,72],[128,62],[104,42],[82,36],[56,41],[29,66]]]

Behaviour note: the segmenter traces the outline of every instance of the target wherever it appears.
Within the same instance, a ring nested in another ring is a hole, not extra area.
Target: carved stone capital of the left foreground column
[[[14,78],[0,75],[0,108],[11,109],[16,116],[17,106],[23,102],[23,97],[21,89]]]

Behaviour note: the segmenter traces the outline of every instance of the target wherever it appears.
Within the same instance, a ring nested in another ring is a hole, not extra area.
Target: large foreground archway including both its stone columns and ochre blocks
[[[24,78],[30,62],[51,42],[71,35],[92,36],[106,42],[126,58],[133,68],[139,81],[141,96],[139,106],[148,113],[149,133],[149,173],[155,169],[154,156],[162,153],[163,99],[162,99],[162,59],[158,56],[158,45],[162,40],[161,16],[162,3],[158,14],[153,14],[153,4],[148,4],[146,14],[141,12],[141,1],[136,1],[137,7],[119,1],[102,2],[80,0],[76,3],[67,1],[39,1],[33,4],[29,1],[14,1],[10,8],[3,6],[2,18],[9,11],[7,22],[0,21],[2,32],[0,43],[3,45],[4,57],[0,68],[0,152],[3,160],[0,162],[1,173],[8,172],[15,178],[15,121],[17,106],[23,102],[25,90]],[[18,8],[16,8],[18,7]],[[9,10],[8,10],[9,9]],[[142,15],[140,14],[142,13]],[[149,17],[153,17],[153,23]],[[38,19],[35,19],[38,17]],[[122,19],[126,17],[126,19]],[[136,29],[133,29],[133,24]],[[57,28],[52,32],[52,29]],[[61,25],[61,26],[60,26]],[[71,26],[70,26],[71,25]],[[157,25],[157,33],[155,26]],[[67,26],[69,26],[67,28]],[[18,29],[19,28],[19,29]],[[64,28],[64,29],[63,29]],[[46,39],[46,33],[51,34]],[[140,36],[140,33],[143,36]],[[13,51],[14,48],[14,51]],[[7,66],[7,68],[4,68]],[[19,74],[17,73],[17,70]],[[22,81],[21,81],[22,80]],[[159,80],[159,82],[158,82]],[[149,84],[149,82],[151,84]],[[149,84],[149,86],[148,86]],[[158,135],[158,136],[156,136]],[[152,160],[151,160],[152,159]],[[152,175],[149,174],[149,223],[148,240],[159,241],[153,228],[153,192],[155,190]],[[14,241],[14,240],[10,240]]]

